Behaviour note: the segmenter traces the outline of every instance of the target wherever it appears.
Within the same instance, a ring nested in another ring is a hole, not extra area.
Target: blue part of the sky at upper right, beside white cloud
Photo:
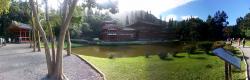
[[[250,0],[194,0],[162,12],[160,15],[176,20],[190,16],[206,20],[208,15],[213,16],[218,10],[224,10],[229,17],[229,25],[234,25],[238,17],[243,17],[250,12]]]

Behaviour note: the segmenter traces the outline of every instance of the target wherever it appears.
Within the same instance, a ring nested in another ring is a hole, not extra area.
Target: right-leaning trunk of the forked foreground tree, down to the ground
[[[65,1],[67,1],[67,0],[65,0]],[[62,50],[63,50],[66,31],[68,30],[69,23],[70,23],[70,20],[72,18],[72,14],[74,12],[77,1],[78,0],[73,0],[72,4],[69,7],[69,13],[67,14],[66,17],[64,17],[65,19],[62,20],[63,23],[61,25],[60,35],[59,35],[59,39],[58,39],[59,41],[58,41],[58,44],[57,44],[56,73],[55,73],[57,75],[57,79],[61,79],[63,77],[62,76],[62,74],[63,74]],[[66,5],[64,5],[64,6],[66,6]]]

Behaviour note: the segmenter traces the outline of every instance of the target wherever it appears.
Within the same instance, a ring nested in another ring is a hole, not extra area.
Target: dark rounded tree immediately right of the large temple
[[[176,28],[177,34],[182,40],[203,40],[203,36],[206,36],[206,26],[204,26],[203,20],[199,18],[190,18],[182,20],[180,22],[170,20],[169,27],[172,25]]]

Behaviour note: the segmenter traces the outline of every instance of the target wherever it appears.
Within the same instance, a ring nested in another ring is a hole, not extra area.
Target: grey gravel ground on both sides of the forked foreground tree
[[[70,80],[102,80],[100,74],[78,57],[64,57],[64,73]],[[32,52],[29,44],[0,47],[0,80],[46,80],[45,54]]]

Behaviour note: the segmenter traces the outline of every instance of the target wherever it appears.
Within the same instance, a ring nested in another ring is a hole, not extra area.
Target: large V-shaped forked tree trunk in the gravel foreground
[[[59,41],[57,44],[57,51],[56,51],[56,56],[55,56],[55,64],[52,62],[51,54],[50,54],[50,49],[48,45],[48,39],[46,37],[45,31],[39,22],[38,19],[38,14],[37,14],[37,7],[38,5],[35,6],[34,1],[30,0],[31,8],[32,8],[32,13],[34,14],[35,17],[35,23],[37,23],[37,28],[39,32],[41,33],[42,40],[44,42],[44,47],[45,47],[45,55],[46,55],[46,61],[47,61],[47,68],[48,68],[48,77],[51,78],[52,80],[62,80],[65,79],[66,77],[63,75],[63,57],[62,57],[62,50],[63,50],[63,45],[64,45],[64,40],[65,40],[65,35],[66,31],[68,30],[70,20],[72,18],[73,11],[75,9],[75,6],[77,4],[78,0],[64,0],[64,11],[63,13],[63,23],[61,24],[60,27],[60,35],[59,35]],[[68,8],[66,8],[68,7]],[[67,13],[67,10],[68,13]]]

